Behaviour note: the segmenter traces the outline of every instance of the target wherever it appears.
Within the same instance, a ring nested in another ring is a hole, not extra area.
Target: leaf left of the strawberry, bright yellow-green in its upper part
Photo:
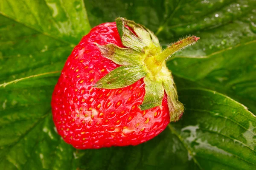
[[[56,133],[51,96],[74,45],[90,30],[81,0],[0,3],[0,169],[76,169]]]

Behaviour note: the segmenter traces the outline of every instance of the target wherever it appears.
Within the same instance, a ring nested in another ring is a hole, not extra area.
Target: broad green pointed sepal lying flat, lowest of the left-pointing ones
[[[118,67],[96,82],[93,87],[115,89],[134,84],[146,75],[143,65],[125,65]]]

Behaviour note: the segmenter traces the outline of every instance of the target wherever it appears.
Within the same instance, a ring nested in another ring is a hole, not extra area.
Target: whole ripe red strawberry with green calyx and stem
[[[64,141],[79,149],[137,145],[154,138],[183,105],[165,60],[195,43],[162,50],[147,28],[124,18],[94,27],[74,48],[52,94]]]

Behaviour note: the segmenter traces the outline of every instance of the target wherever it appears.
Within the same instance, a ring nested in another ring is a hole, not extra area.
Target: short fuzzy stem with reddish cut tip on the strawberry
[[[195,44],[195,42],[200,39],[198,37],[192,36],[187,37],[183,40],[175,42],[171,46],[167,47],[162,53],[154,56],[155,61],[158,63],[162,63],[166,59],[168,59],[172,54],[175,54],[177,51],[180,51],[183,48],[186,48],[189,45]]]

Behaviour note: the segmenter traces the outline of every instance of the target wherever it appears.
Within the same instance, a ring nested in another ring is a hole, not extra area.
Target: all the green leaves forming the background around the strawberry
[[[254,0],[1,0],[0,169],[256,169],[255,6]],[[52,91],[81,37],[116,17],[150,28],[163,48],[189,34],[201,37],[167,61],[186,110],[136,147],[76,150],[56,133]]]

